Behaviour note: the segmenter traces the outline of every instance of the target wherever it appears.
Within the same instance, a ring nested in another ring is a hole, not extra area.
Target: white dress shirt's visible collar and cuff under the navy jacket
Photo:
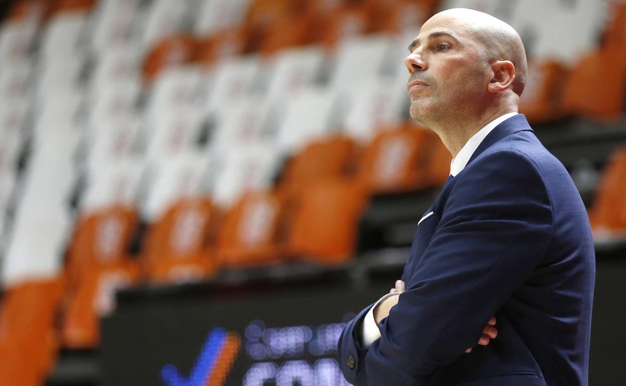
[[[473,135],[469,140],[463,145],[463,148],[459,151],[459,153],[452,159],[450,163],[450,175],[456,177],[461,170],[465,168],[465,166],[469,162],[469,158],[474,154],[478,146],[480,146],[481,142],[485,140],[485,137],[491,133],[491,130],[495,129],[498,124],[503,123],[506,119],[511,118],[512,116],[516,116],[518,113],[508,113],[502,116],[499,116],[496,119],[493,119],[490,123],[488,123],[484,128],[478,131],[475,135]],[[429,213],[430,215],[431,213]],[[421,220],[420,220],[421,221]],[[419,225],[418,225],[419,226]],[[365,315],[365,319],[363,320],[362,326],[362,337],[363,337],[363,345],[365,348],[369,347],[374,340],[381,337],[381,331],[378,329],[378,325],[376,325],[376,321],[374,320],[374,308],[376,308],[379,303],[389,297],[398,296],[399,293],[387,293],[384,297],[380,298],[372,308],[369,309],[369,312]]]

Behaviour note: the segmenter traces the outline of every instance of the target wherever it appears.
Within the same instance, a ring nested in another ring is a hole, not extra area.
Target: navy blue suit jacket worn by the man
[[[406,292],[369,348],[361,324],[339,339],[354,385],[587,385],[595,254],[563,165],[519,114],[450,178],[418,226]],[[498,320],[498,337],[477,346]],[[473,352],[464,353],[473,347]]]

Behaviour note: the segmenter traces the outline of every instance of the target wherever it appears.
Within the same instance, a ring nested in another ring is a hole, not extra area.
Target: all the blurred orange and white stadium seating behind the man
[[[120,288],[354,263],[369,198],[448,176],[438,138],[404,121],[406,45],[439,5],[482,7],[531,41],[531,121],[622,116],[622,3],[607,21],[593,1],[528,2],[563,23],[527,2],[439,3],[18,3],[0,33],[0,384],[41,384],[59,347],[96,347]],[[576,34],[550,41],[555,25]],[[624,154],[590,209],[598,237],[626,230]]]

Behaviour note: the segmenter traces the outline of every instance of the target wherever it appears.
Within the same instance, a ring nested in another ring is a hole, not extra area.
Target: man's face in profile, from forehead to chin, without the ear
[[[404,59],[411,116],[426,124],[441,114],[480,106],[490,79],[483,47],[469,26],[436,15],[424,23]]]

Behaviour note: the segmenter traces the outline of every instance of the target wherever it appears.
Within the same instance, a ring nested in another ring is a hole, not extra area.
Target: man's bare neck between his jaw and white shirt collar
[[[484,114],[474,119],[456,116],[457,119],[454,119],[454,121],[446,122],[432,129],[439,135],[443,145],[452,153],[452,156],[456,157],[463,146],[469,141],[469,138],[478,133],[478,131],[487,126],[487,124],[504,114],[516,112],[516,107],[504,106],[499,109],[485,111]]]

